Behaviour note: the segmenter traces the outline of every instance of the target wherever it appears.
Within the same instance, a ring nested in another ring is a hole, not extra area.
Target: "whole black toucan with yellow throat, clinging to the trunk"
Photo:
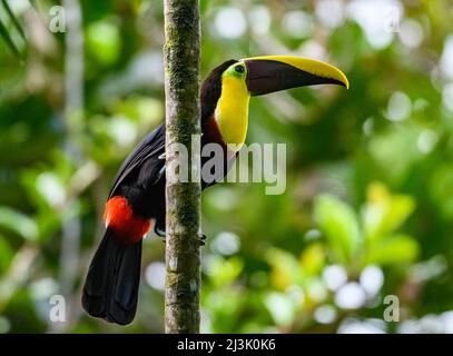
[[[240,149],[247,134],[250,97],[315,85],[349,87],[339,69],[314,59],[263,56],[227,60],[201,85],[201,148],[214,142],[225,150]],[[237,151],[230,154],[225,155],[227,168]],[[205,161],[201,158],[201,166]],[[215,182],[201,179],[201,189]],[[134,149],[114,180],[104,211],[106,230],[82,290],[82,306],[89,315],[119,325],[134,320],[141,241],[151,221],[156,234],[165,237],[165,186],[163,123]]]

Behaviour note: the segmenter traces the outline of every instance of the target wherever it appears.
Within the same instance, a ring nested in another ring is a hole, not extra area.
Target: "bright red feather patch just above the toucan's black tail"
[[[126,244],[135,244],[144,238],[151,228],[151,221],[134,216],[132,208],[125,197],[109,199],[104,210],[104,222]]]

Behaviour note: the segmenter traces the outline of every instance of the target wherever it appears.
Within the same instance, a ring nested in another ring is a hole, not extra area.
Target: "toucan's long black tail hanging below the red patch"
[[[127,325],[137,310],[141,240],[124,245],[107,229],[88,269],[82,306],[93,317]]]

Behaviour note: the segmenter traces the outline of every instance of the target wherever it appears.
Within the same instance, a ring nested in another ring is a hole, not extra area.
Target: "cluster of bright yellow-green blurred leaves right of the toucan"
[[[410,196],[391,196],[382,184],[372,184],[358,220],[354,210],[333,196],[315,200],[315,221],[324,231],[334,261],[344,266],[392,265],[414,261],[418,244],[395,231],[413,212]]]

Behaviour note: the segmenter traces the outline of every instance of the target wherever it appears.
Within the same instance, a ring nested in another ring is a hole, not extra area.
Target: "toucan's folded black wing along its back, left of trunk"
[[[141,166],[147,159],[165,154],[165,125],[161,123],[154,131],[149,132],[141,140],[140,144],[134,149],[129,157],[124,161],[119,168],[117,176],[114,180],[114,186],[109,194],[109,199],[116,194],[116,190],[120,184],[139,166]],[[165,159],[163,158],[163,166]]]

